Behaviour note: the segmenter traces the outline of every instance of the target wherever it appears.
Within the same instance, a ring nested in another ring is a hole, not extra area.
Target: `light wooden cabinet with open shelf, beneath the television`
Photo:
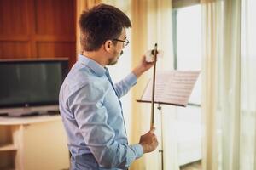
[[[61,116],[0,117],[0,169],[69,168]]]

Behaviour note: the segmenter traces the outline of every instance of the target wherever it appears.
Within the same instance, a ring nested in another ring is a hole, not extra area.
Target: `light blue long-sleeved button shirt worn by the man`
[[[59,101],[72,169],[127,169],[143,156],[141,144],[128,145],[119,100],[136,81],[131,73],[113,84],[106,67],[79,55]]]

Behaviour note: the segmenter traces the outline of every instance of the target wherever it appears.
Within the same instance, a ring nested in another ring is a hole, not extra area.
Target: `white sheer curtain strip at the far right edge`
[[[240,169],[256,169],[256,1],[242,0]]]

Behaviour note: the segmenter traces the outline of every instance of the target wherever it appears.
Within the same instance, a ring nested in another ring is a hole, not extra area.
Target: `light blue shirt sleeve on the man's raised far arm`
[[[115,91],[119,98],[127,94],[132,86],[137,82],[137,77],[131,72],[127,77],[114,84]]]

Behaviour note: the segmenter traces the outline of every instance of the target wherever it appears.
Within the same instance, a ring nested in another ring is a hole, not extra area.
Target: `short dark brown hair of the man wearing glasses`
[[[118,38],[123,28],[131,27],[131,20],[119,8],[99,4],[83,11],[79,26],[82,49],[95,51],[107,40]]]

